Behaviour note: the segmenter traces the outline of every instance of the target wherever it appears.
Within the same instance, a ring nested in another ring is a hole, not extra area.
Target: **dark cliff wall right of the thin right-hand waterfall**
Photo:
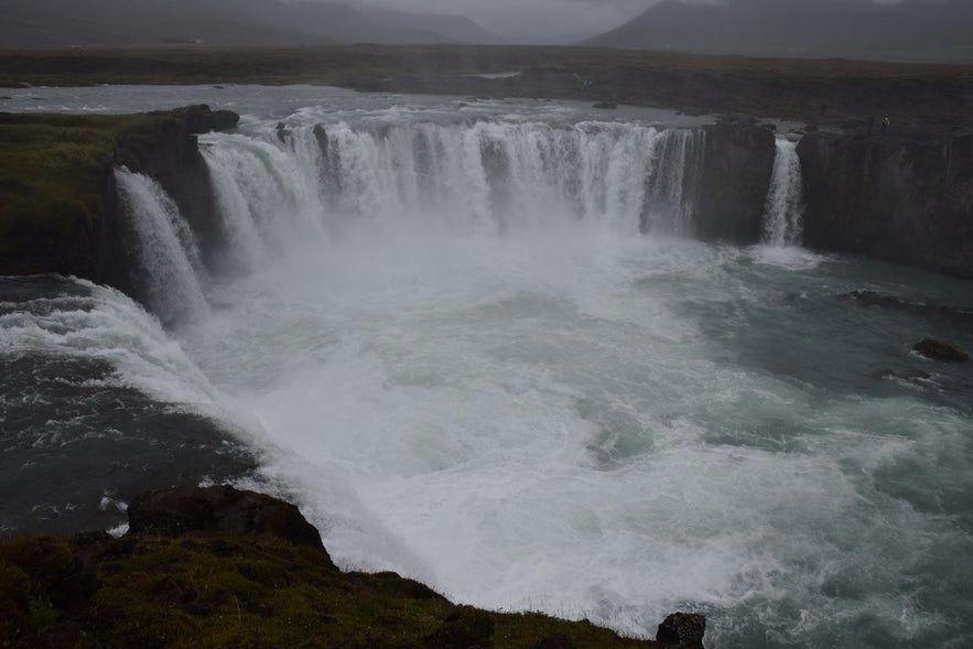
[[[973,134],[808,133],[804,244],[973,278]]]

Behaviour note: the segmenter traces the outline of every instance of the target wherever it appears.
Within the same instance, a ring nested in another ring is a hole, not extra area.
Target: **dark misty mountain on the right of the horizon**
[[[663,0],[587,45],[768,56],[973,62],[973,1]]]

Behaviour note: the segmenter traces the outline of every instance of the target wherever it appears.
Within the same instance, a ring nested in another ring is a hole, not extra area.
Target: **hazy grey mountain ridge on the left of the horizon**
[[[282,0],[0,0],[0,46],[497,43],[464,18]]]

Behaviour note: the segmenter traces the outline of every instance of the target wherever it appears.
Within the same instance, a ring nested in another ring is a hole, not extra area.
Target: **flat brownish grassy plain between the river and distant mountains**
[[[520,72],[516,77],[476,75]],[[973,123],[973,66],[588,47],[380,46],[0,51],[0,85],[320,84],[361,90],[615,100],[840,125]],[[2,102],[0,102],[2,108]]]

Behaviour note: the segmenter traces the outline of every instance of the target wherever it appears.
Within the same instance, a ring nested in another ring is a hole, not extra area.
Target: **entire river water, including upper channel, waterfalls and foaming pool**
[[[973,368],[911,351],[973,348],[973,285],[793,245],[793,187],[766,245],[694,241],[705,119],[10,93],[244,119],[201,137],[216,252],[119,170],[142,305],[0,279],[0,533],[115,528],[144,488],[230,479],[298,502],[340,565],[478,606],[646,637],[698,610],[715,649],[973,646]]]

